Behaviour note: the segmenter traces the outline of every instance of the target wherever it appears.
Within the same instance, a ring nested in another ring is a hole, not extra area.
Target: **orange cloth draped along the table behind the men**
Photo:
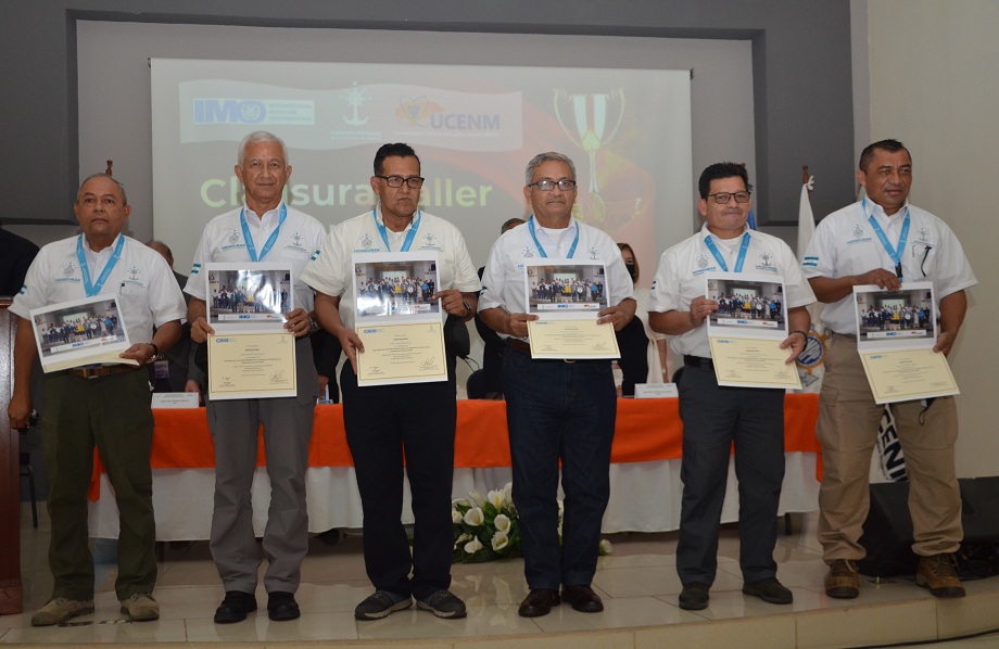
[[[506,403],[459,400],[454,466],[458,468],[509,467],[510,444],[506,432]],[[215,446],[208,433],[205,409],[153,410],[151,463],[153,469],[204,469],[215,466]],[[820,455],[815,438],[819,395],[788,394],[784,399],[784,449]],[[682,456],[683,424],[679,399],[618,399],[612,462],[647,462]],[[94,451],[94,456],[96,456]],[[264,466],[263,435],[257,465]],[[316,406],[309,467],[350,467],[351,451],[339,405]],[[821,472],[821,457],[817,462]],[[96,457],[94,478],[102,469]],[[91,487],[97,484],[92,483]],[[91,496],[93,492],[91,488]]]

